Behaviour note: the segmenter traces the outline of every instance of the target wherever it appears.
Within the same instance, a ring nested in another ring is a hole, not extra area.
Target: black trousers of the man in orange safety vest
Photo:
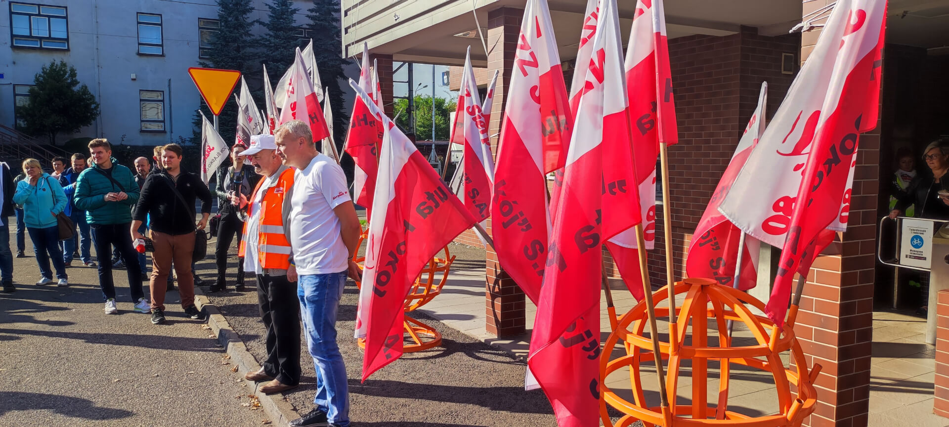
[[[287,276],[257,274],[257,302],[267,328],[264,373],[287,385],[300,383],[300,301]]]

